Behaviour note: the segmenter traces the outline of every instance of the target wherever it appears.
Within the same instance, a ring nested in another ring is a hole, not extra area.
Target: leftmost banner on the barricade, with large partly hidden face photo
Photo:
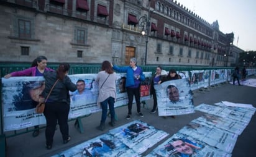
[[[35,112],[35,106],[39,103],[39,96],[44,88],[43,77],[2,78],[4,131],[45,124],[43,114]]]

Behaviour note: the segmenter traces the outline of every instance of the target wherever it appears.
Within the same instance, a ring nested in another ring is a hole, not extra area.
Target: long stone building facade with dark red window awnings
[[[230,66],[243,51],[171,0],[1,0],[0,13],[0,62]]]

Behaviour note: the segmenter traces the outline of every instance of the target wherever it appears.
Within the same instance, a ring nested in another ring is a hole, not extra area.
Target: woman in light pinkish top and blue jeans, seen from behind
[[[101,71],[96,77],[96,82],[99,85],[99,97],[97,104],[101,104],[101,123],[97,127],[99,130],[104,130],[105,121],[107,118],[107,104],[109,106],[109,112],[111,114],[111,122],[109,125],[114,127],[115,122],[115,110],[114,103],[116,100],[116,73],[112,69],[111,63],[109,61],[104,61],[101,64]]]

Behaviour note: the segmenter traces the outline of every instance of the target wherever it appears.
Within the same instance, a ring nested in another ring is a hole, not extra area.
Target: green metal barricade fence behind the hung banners
[[[18,70],[24,70],[30,67],[30,64],[1,64],[0,65],[0,77],[4,77],[4,75],[9,74],[14,71]],[[51,69],[57,69],[58,64],[48,64],[47,67],[50,67]],[[155,73],[155,69],[157,66],[140,66],[142,67],[142,70],[144,72],[152,72]],[[211,70],[211,69],[234,69],[234,67],[204,67],[204,66],[162,66],[164,70],[167,70],[167,72],[170,69],[175,69],[177,71],[191,71],[191,70]],[[69,74],[98,74],[99,70],[101,69],[101,65],[99,64],[70,64],[70,71]],[[14,137],[16,135],[25,134],[27,132],[34,131],[34,127],[30,127],[27,129],[22,130],[14,130],[11,132],[3,132],[3,112],[2,112],[2,79],[0,82],[0,88],[1,88],[1,95],[0,95],[0,119],[1,119],[1,134],[0,134],[0,150],[2,152],[5,151],[6,146],[6,138]],[[88,115],[89,116],[89,115]],[[86,117],[86,116],[85,116]],[[70,121],[73,121],[76,119],[71,119]],[[77,122],[77,121],[76,121]],[[78,121],[80,123],[80,121]],[[45,125],[42,125],[40,129],[44,128]],[[83,129],[83,128],[82,128]],[[81,130],[80,130],[81,132]]]

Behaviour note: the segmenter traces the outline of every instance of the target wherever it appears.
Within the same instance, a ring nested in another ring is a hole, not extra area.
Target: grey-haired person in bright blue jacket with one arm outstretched
[[[143,74],[142,69],[137,66],[137,60],[135,57],[132,57],[130,59],[130,66],[113,66],[113,69],[117,72],[126,72],[126,92],[128,95],[128,115],[126,116],[126,119],[130,119],[132,115],[132,101],[134,96],[137,104],[137,112],[140,117],[144,117],[140,111],[140,81],[145,80],[145,75]]]

